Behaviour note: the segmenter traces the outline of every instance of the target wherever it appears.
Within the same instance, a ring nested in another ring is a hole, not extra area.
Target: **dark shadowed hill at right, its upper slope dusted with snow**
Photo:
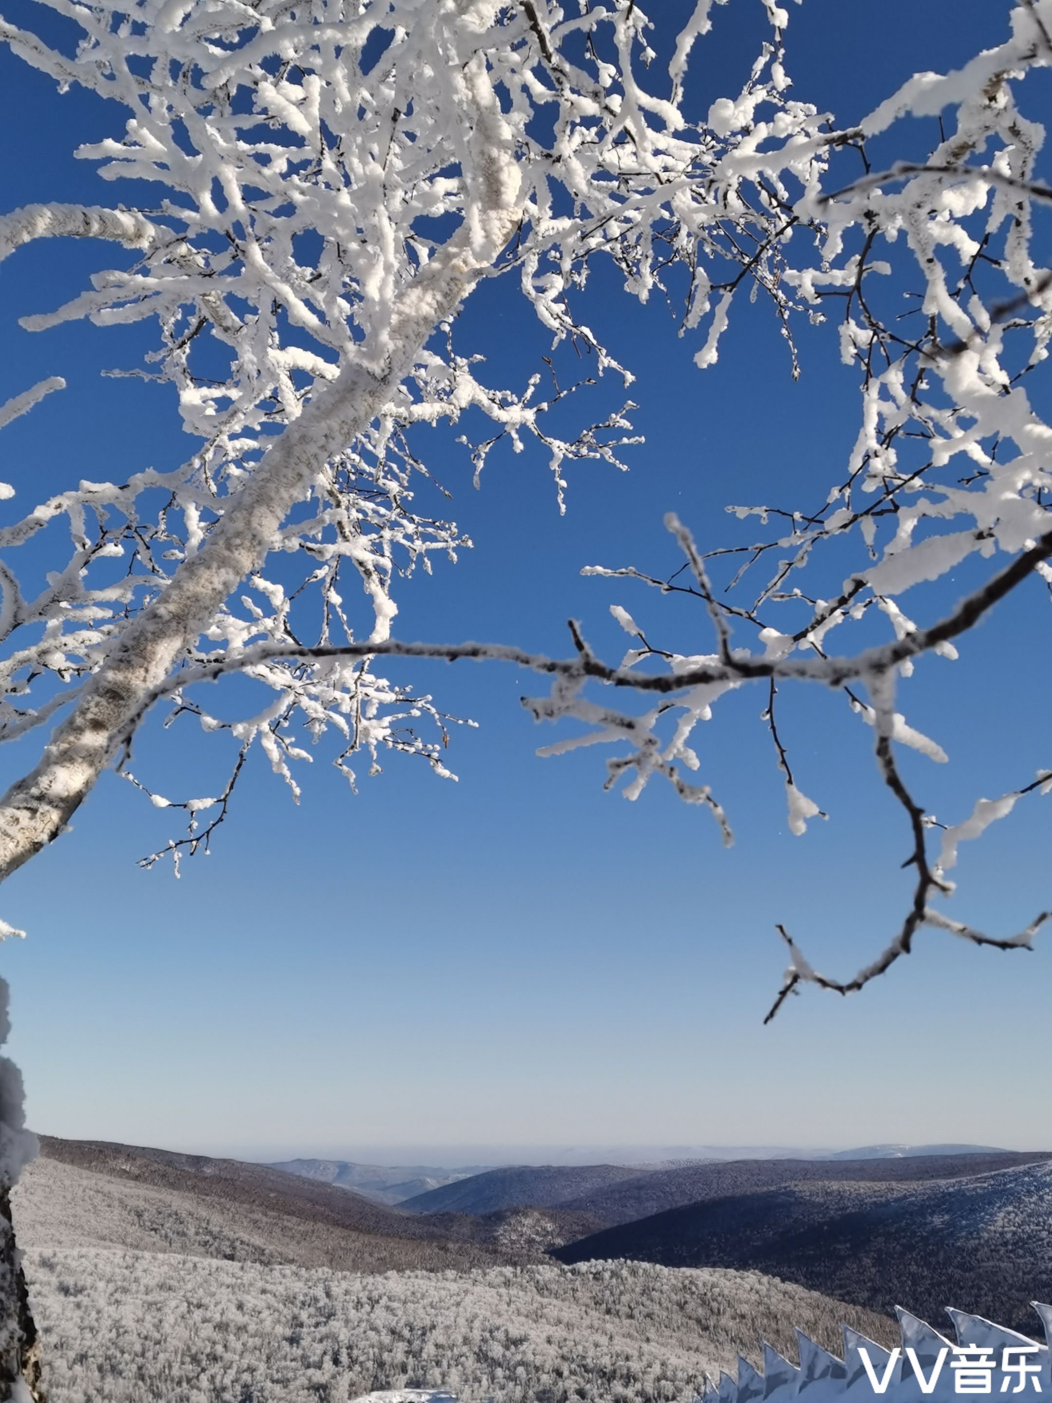
[[[992,1159],[993,1156],[990,1156]],[[969,1156],[972,1163],[983,1156]],[[959,1309],[1030,1329],[1030,1302],[1052,1294],[1052,1163],[898,1183],[798,1177],[622,1222],[556,1247],[559,1261],[628,1258],[754,1268],[876,1310],[934,1319]],[[933,1166],[937,1157],[855,1162]],[[841,1169],[848,1166],[843,1164]],[[927,1177],[927,1176],[926,1176]]]

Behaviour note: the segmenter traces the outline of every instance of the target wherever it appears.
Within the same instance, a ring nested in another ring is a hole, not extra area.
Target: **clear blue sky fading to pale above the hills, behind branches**
[[[792,8],[789,72],[799,95],[850,121],[912,72],[997,42],[1007,8],[805,0]],[[698,49],[705,101],[761,28],[758,0],[716,13],[714,42]],[[119,114],[58,97],[7,53],[0,102],[4,129],[21,133],[0,157],[6,208],[114,198],[69,153],[114,130]],[[41,244],[0,269],[0,401],[46,375],[69,380],[4,432],[15,504],[185,456],[162,391],[98,376],[136,363],[140,328],[31,337],[15,325],[112,258]],[[461,318],[461,345],[487,354],[494,383],[521,384],[546,348],[527,317],[510,285],[493,285]],[[666,511],[711,544],[728,529],[728,502],[798,499],[799,483],[824,491],[846,459],[858,401],[829,331],[803,337],[794,384],[763,306],[736,313],[704,375],[691,365],[697,344],[676,338],[667,313],[615,296],[612,281],[597,285],[589,317],[638,375],[646,445],[629,450],[631,471],[581,466],[559,518],[539,455],[494,453],[475,492],[465,459],[437,443],[431,467],[455,495],[447,511],[476,549],[403,593],[400,637],[565,652],[573,615],[615,654],[625,638],[608,606],[621,603],[659,641],[684,647],[695,630],[691,647],[708,647],[692,613],[642,586],[581,579],[580,567],[664,572],[677,564]],[[605,404],[618,391],[597,396]],[[954,762],[906,762],[940,817],[959,819],[978,794],[1052,765],[1041,749],[1048,610],[1032,589],[1011,619],[983,626],[952,673],[928,666],[910,683],[910,720]],[[1052,1143],[1041,1079],[1048,941],[1010,957],[931,932],[862,996],[812,993],[761,1027],[784,965],[777,920],[819,968],[848,974],[886,943],[906,902],[906,835],[875,781],[868,732],[841,699],[785,696],[799,781],[831,814],[803,839],[785,828],[763,697],[726,706],[702,752],[736,829],[725,852],[708,815],[671,794],[652,788],[626,804],[603,793],[596,751],[537,759],[555,734],[517,703],[535,679],[496,665],[403,664],[390,675],[480,723],[454,734],[458,784],[392,756],[353,797],[319,763],[301,776],[295,807],[256,763],[213,856],[176,881],[135,864],[170,821],[107,776],[74,831],[6,885],[0,915],[29,930],[0,951],[0,971],[35,1128],[249,1156]],[[221,749],[221,738],[162,737],[150,724],[136,767],[164,793],[211,791]],[[25,763],[3,756],[4,779]],[[1049,810],[1030,804],[968,852],[961,919],[1007,933],[1048,905]]]

